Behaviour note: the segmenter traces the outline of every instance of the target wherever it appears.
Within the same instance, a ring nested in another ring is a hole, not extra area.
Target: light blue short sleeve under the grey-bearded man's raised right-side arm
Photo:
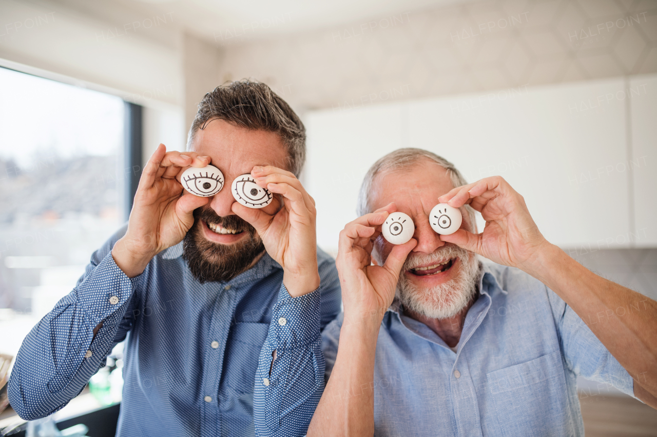
[[[547,288],[547,287],[546,287]],[[634,397],[634,381],[593,331],[554,291],[547,289],[562,354],[570,371],[597,383],[612,385]],[[591,320],[590,323],[598,323]]]

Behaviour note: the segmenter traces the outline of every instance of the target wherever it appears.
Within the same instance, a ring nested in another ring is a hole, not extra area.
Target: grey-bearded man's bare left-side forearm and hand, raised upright
[[[376,339],[383,316],[395,297],[401,266],[417,244],[417,240],[411,239],[394,247],[383,266],[371,265],[371,240],[380,234],[380,225],[394,211],[394,204],[390,204],[353,220],[340,232],[336,260],[344,302],[340,347],[308,436],[374,434],[371,387]]]

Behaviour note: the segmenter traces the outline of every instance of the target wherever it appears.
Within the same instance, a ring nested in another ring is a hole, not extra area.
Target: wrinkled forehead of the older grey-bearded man
[[[391,201],[400,210],[405,209],[404,205],[419,207],[419,204],[434,202],[430,206],[433,207],[438,203],[438,197],[454,188],[447,169],[429,159],[384,170],[376,175],[372,185],[373,210]]]

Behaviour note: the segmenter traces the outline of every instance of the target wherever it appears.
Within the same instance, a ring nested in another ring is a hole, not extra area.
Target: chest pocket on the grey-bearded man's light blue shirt
[[[487,373],[486,379],[501,435],[569,434],[570,407],[559,350]]]

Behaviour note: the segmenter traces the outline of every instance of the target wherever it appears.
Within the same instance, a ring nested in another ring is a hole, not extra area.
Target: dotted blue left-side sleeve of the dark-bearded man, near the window
[[[7,390],[22,419],[46,417],[68,404],[105,365],[114,345],[125,339],[138,280],[125,276],[112,258],[120,236],[121,231],[93,254],[73,291],[24,339]]]

